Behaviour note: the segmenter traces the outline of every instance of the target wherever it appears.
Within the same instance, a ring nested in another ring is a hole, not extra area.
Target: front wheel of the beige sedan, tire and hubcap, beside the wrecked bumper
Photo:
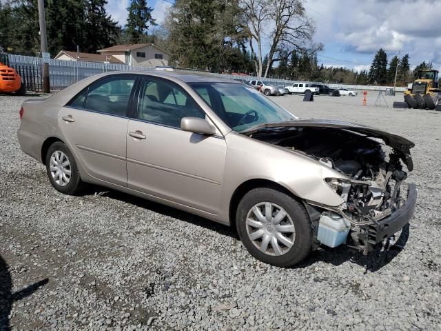
[[[289,267],[311,252],[311,221],[305,207],[272,188],[249,191],[238,205],[236,228],[256,259]]]

